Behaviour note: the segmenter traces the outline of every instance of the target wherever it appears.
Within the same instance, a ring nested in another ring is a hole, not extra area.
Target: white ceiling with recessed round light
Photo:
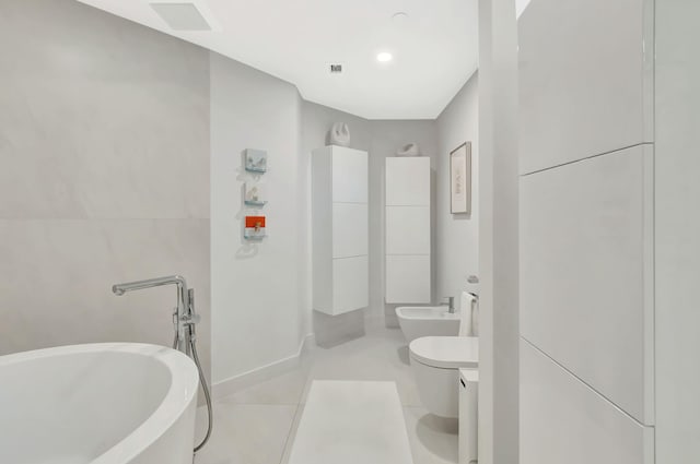
[[[148,0],[79,0],[289,81],[368,119],[433,119],[477,69],[477,0],[167,0],[213,31],[173,31]],[[165,0],[151,0],[163,2]],[[408,13],[393,21],[396,12]],[[376,55],[394,59],[380,63]],[[341,63],[341,75],[330,74]]]

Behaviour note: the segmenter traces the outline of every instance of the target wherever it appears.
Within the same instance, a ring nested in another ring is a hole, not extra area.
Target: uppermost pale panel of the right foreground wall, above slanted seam
[[[521,172],[653,142],[651,3],[529,3],[518,21]]]

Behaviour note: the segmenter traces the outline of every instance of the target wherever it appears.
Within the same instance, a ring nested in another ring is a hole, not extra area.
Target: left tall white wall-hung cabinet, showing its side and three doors
[[[313,309],[337,316],[369,306],[368,153],[312,154]]]

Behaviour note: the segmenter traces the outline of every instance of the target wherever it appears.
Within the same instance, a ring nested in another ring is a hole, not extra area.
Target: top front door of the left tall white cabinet
[[[332,147],[332,201],[368,202],[368,154],[359,150]]]

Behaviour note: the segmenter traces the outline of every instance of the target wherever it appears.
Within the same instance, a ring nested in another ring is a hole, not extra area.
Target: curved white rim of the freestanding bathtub
[[[199,373],[194,361],[185,354],[166,346],[145,343],[90,343],[0,356],[0,369],[51,357],[100,353],[124,353],[152,358],[163,364],[171,373],[171,384],[155,411],[114,447],[90,461],[90,464],[129,462],[165,435],[196,401]]]

